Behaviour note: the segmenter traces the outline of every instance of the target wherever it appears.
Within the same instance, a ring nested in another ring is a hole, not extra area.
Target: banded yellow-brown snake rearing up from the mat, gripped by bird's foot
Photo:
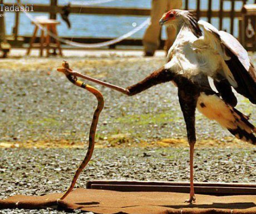
[[[97,101],[98,101],[96,110],[93,113],[92,123],[91,123],[91,127],[90,127],[88,150],[86,152],[85,158],[83,158],[83,161],[80,163],[80,166],[77,168],[75,175],[73,176],[70,187],[61,196],[61,198],[58,199],[58,200],[64,200],[68,196],[68,194],[73,190],[73,188],[76,185],[77,179],[80,176],[80,173],[83,171],[83,169],[86,167],[88,162],[91,160],[92,153],[93,153],[94,146],[95,146],[95,133],[96,133],[96,129],[97,129],[97,124],[99,121],[100,113],[101,113],[102,109],[104,108],[104,98],[99,90],[97,90],[96,88],[94,88],[88,84],[85,84],[84,82],[78,80],[75,76],[73,76],[70,73],[70,71],[72,71],[72,69],[70,69],[70,66],[66,61],[64,61],[62,63],[62,68],[57,68],[57,71],[63,72],[66,75],[67,79],[70,82],[72,82],[73,84],[75,84],[76,86],[86,89],[87,91],[91,92],[97,98]]]

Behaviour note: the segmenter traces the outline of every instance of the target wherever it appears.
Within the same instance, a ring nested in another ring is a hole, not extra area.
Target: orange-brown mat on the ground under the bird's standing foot
[[[68,208],[83,211],[114,214],[155,213],[233,213],[256,214],[256,196],[208,196],[196,195],[196,203],[184,203],[188,193],[171,192],[117,192],[78,188],[57,205],[60,193],[45,196],[16,195],[0,200],[0,208]],[[58,206],[58,207],[57,207]]]

